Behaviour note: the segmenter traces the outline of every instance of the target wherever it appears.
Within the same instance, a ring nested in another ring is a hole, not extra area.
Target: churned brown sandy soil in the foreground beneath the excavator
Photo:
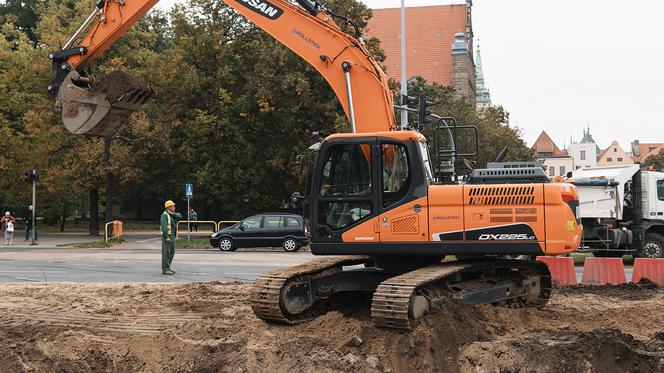
[[[664,371],[664,289],[557,290],[542,310],[447,304],[412,332],[368,306],[295,326],[248,284],[0,285],[2,372]]]

